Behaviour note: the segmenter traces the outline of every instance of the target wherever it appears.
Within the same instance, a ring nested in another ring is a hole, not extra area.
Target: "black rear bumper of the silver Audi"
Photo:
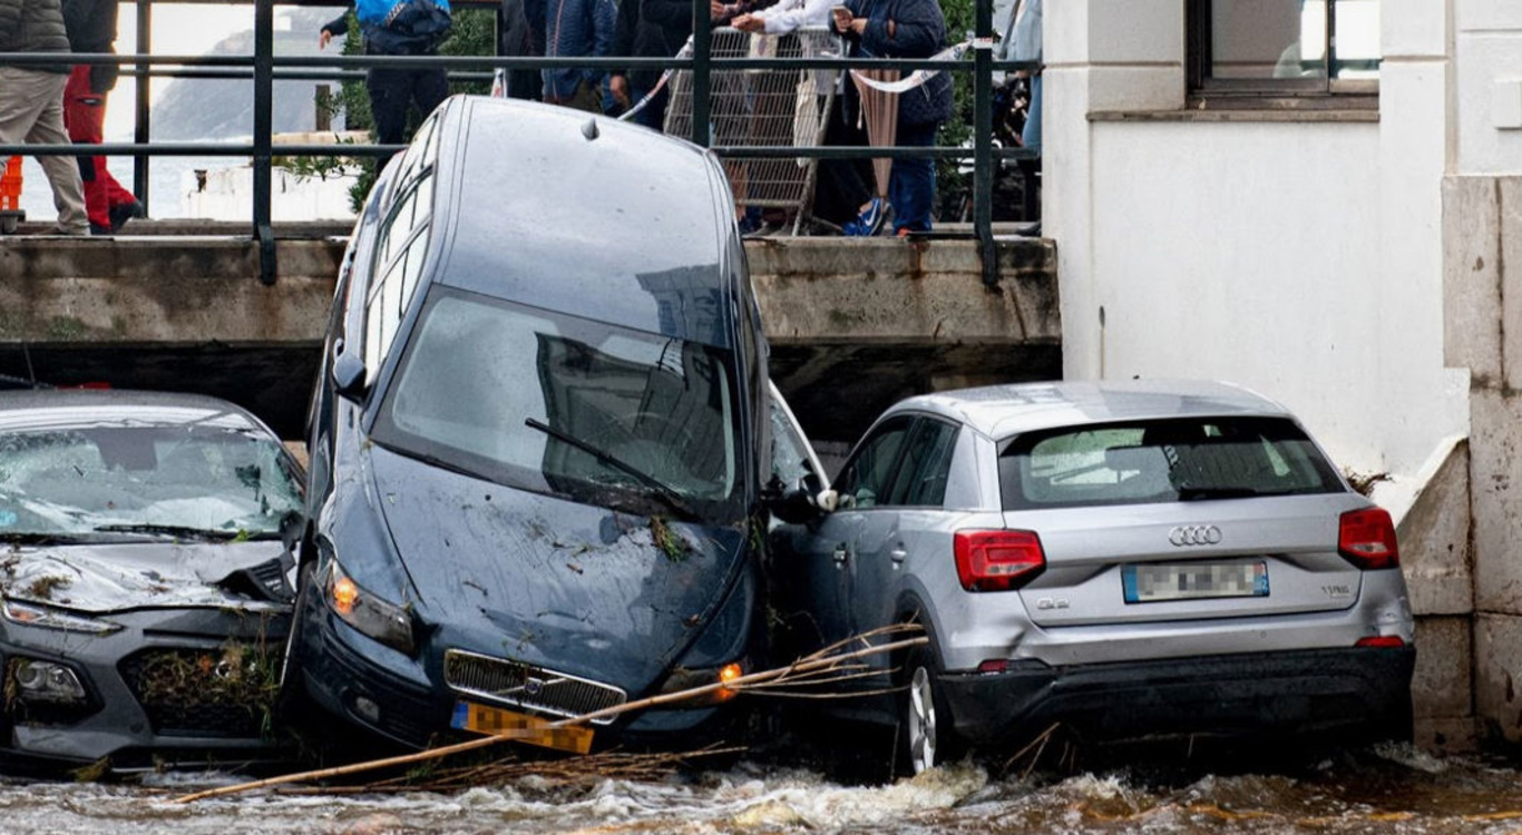
[[[1303,649],[941,677],[956,732],[1102,739],[1409,729],[1415,648]]]

